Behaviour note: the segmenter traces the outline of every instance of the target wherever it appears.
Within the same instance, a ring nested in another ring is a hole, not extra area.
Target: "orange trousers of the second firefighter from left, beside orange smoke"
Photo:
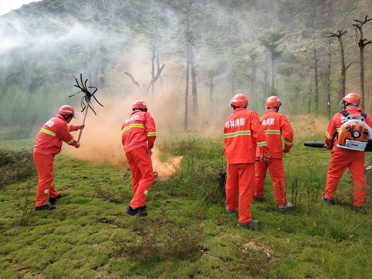
[[[147,193],[154,181],[153,164],[147,148],[140,147],[125,153],[132,171],[132,208],[145,205]]]

